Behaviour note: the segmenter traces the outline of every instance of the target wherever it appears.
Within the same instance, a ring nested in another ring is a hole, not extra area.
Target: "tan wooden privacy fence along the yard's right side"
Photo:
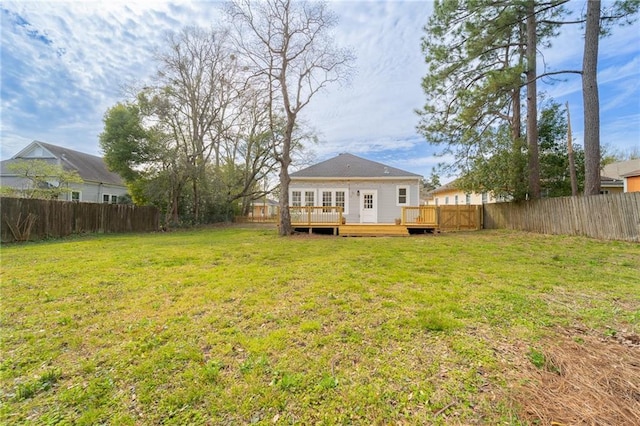
[[[486,229],[640,241],[640,192],[484,205]]]

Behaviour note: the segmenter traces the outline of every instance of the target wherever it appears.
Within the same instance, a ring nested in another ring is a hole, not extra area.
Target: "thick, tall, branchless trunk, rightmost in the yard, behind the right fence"
[[[584,195],[600,193],[600,100],[598,97],[598,43],[600,0],[587,2],[587,23],[582,59],[584,105]]]

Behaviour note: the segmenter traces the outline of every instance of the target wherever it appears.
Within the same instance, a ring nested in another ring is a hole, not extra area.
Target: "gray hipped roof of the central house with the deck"
[[[292,179],[348,178],[421,178],[422,176],[382,163],[340,154],[321,163],[291,173]]]

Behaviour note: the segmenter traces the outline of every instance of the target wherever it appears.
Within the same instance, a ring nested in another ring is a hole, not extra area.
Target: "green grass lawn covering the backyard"
[[[640,333],[632,243],[215,228],[1,256],[2,424],[528,424],[543,341]]]

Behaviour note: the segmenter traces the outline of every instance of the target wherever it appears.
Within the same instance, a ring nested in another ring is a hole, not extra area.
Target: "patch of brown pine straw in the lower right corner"
[[[640,336],[560,330],[523,354],[514,397],[541,425],[640,425]]]

